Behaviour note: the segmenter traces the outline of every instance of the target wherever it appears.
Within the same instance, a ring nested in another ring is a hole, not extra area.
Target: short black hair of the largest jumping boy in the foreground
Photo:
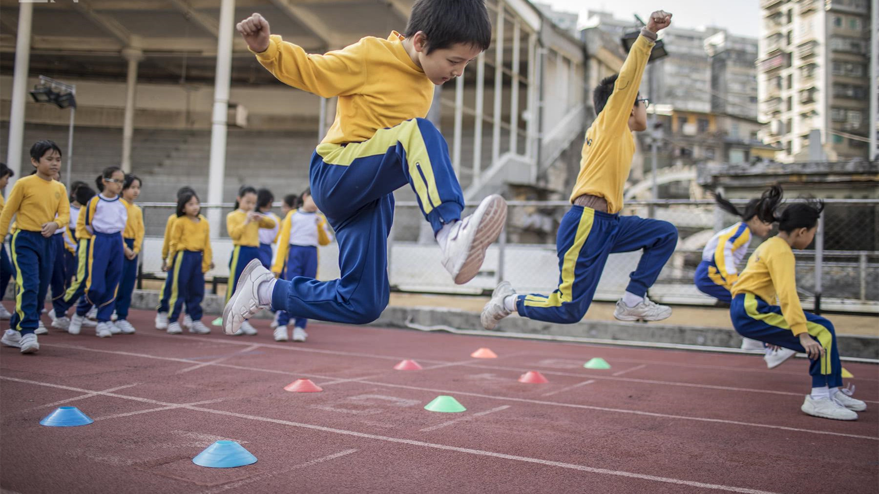
[[[422,31],[427,54],[463,43],[485,51],[491,44],[491,21],[483,0],[416,0],[406,38]]]

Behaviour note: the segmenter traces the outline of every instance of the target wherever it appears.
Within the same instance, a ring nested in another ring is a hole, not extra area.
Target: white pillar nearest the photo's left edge
[[[25,99],[27,70],[31,58],[31,18],[33,4],[18,4],[18,38],[15,41],[15,72],[12,76],[12,104],[9,113],[9,143],[6,164],[15,173],[6,190],[21,178],[21,147],[25,139]]]

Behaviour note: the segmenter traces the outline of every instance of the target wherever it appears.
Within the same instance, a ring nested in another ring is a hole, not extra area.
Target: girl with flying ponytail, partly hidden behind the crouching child
[[[717,232],[705,244],[701,263],[696,267],[694,276],[694,283],[700,292],[730,303],[730,290],[738,279],[737,266],[745,259],[751,236],[769,235],[781,195],[781,187],[774,185],[760,199],[749,200],[741,211],[729,200],[723,199],[721,194],[715,195],[718,207],[735,214],[742,221]]]

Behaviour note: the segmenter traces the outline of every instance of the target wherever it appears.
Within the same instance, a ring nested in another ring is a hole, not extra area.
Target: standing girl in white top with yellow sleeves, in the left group
[[[105,168],[95,179],[100,193],[91,198],[79,213],[76,222],[76,237],[79,238],[77,277],[64,295],[62,304],[62,313],[66,313],[79,300],[76,314],[70,318],[70,334],[79,334],[92,307],[98,309],[95,334],[99,338],[134,332],[119,328],[111,321],[125,260],[122,232],[128,222],[128,206],[120,196],[124,182],[125,173],[118,167]],[[57,309],[55,314],[58,314]]]

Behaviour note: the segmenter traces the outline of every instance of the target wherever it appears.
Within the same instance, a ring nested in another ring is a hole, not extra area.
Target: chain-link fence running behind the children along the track
[[[733,201],[736,202],[736,201]],[[440,264],[440,252],[432,231],[415,202],[396,203],[394,228],[389,238],[391,285],[402,291],[483,294],[499,280],[509,280],[520,293],[548,294],[556,288],[559,262],[556,231],[570,208],[567,201],[510,201],[504,233],[486,254],[483,269],[463,286],[454,285]],[[803,305],[809,309],[879,312],[879,200],[825,200],[826,208],[815,242],[795,251],[796,277]],[[173,205],[142,204],[147,242],[142,256],[145,277],[163,277],[161,243],[164,225]],[[220,206],[221,218],[233,205]],[[469,214],[476,204],[469,204]],[[212,209],[203,206],[203,213]],[[280,214],[280,211],[278,212]],[[650,288],[650,298],[665,303],[711,305],[714,299],[694,287],[694,272],[701,251],[719,229],[738,221],[710,200],[630,201],[621,214],[654,217],[674,224],[679,242],[672,258]],[[222,225],[214,240],[213,275],[223,282],[229,274],[231,241]],[[774,235],[770,234],[770,235]],[[752,240],[751,251],[762,239]],[[640,252],[611,254],[602,273],[595,299],[615,301],[628,285]],[[744,264],[744,263],[743,263]],[[740,265],[739,268],[744,268]],[[321,249],[319,278],[338,276],[338,246]]]

